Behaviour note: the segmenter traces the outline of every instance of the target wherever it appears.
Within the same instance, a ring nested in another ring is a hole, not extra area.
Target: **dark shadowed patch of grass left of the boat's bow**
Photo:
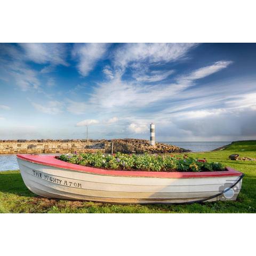
[[[26,187],[18,171],[0,173],[0,192],[18,196],[36,196]]]

